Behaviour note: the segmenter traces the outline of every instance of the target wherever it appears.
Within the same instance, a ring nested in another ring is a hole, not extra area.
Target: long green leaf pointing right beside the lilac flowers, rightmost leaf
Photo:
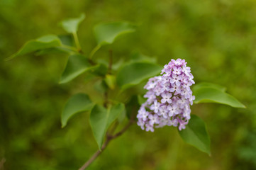
[[[211,86],[201,86],[193,91],[196,99],[194,103],[221,103],[234,108],[245,108],[236,98],[227,94],[223,89],[213,88]]]

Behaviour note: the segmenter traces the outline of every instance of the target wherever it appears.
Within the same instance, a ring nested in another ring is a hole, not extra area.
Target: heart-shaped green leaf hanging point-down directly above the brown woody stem
[[[111,123],[118,118],[123,110],[124,106],[122,103],[118,103],[115,106],[109,107],[108,109],[99,105],[92,108],[89,121],[99,150],[101,150],[101,146],[106,135],[106,130],[108,130]]]

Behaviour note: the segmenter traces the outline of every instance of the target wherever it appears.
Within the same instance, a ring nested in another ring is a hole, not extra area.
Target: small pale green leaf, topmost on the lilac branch
[[[76,33],[79,24],[84,20],[85,14],[82,13],[79,18],[69,18],[61,22],[61,26],[67,33]]]

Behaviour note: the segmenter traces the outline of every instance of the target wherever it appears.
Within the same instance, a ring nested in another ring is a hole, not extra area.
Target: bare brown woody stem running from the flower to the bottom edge
[[[97,152],[94,153],[94,155],[92,155],[92,157],[84,163],[84,165],[79,169],[79,170],[84,170],[86,169],[92,162],[94,162],[94,160],[99,157],[99,154],[101,154],[101,152],[104,151],[104,149],[108,146],[108,143],[115,139],[116,137],[119,137],[121,135],[123,135],[124,132],[126,132],[126,130],[128,130],[128,128],[130,127],[130,125],[132,125],[134,123],[134,121],[131,119],[130,122],[120,131],[117,132],[115,135],[108,135],[106,138],[106,141],[104,142],[104,145],[102,145],[101,147],[101,151],[98,150]]]

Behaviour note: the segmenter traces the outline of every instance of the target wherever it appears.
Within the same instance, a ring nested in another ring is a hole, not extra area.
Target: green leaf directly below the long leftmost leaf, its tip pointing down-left
[[[92,68],[94,68],[94,66],[91,66],[89,60],[84,57],[84,55],[70,55],[62,77],[60,78],[60,84],[67,83]]]

